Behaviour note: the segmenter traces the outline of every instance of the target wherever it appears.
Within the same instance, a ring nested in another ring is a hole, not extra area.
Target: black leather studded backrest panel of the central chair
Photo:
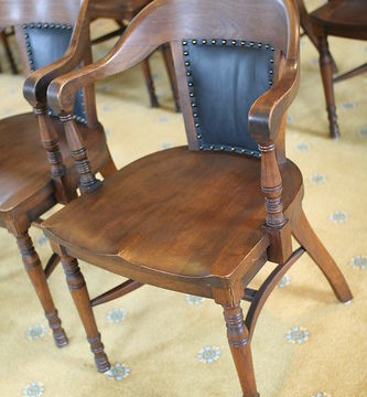
[[[274,49],[248,41],[191,39],[183,41],[183,52],[199,149],[259,157],[248,112],[272,85]]]

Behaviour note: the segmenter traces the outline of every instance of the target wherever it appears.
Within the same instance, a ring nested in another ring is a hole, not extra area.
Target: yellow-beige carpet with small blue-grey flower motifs
[[[316,3],[316,1],[313,1]],[[97,22],[96,31],[106,29]],[[335,39],[341,69],[367,57],[367,43]],[[96,50],[101,56],[104,44]],[[336,86],[342,139],[327,138],[317,54],[302,39],[302,78],[288,116],[288,157],[301,169],[304,208],[346,276],[355,299],[336,301],[305,255],[265,305],[252,350],[258,389],[265,397],[367,396],[367,75]],[[97,87],[98,114],[116,163],[185,143],[161,54],[152,60],[161,108],[149,108],[139,67]],[[0,117],[28,111],[22,77],[0,74]],[[43,261],[51,249],[32,230]],[[255,285],[272,268],[265,267]],[[90,294],[121,279],[82,264]],[[0,396],[206,397],[240,396],[222,308],[207,299],[143,287],[95,310],[114,364],[95,371],[62,268],[50,288],[69,345],[57,350],[22,268],[15,242],[0,230]],[[245,304],[246,308],[246,304]]]

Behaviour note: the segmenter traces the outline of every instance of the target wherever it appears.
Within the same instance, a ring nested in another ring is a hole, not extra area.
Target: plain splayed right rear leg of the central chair
[[[324,273],[336,298],[342,302],[352,300],[353,294],[342,271],[310,226],[303,211],[300,218],[292,223],[292,234]]]

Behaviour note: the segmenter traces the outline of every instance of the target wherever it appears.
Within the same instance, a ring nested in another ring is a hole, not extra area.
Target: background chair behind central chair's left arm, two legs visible
[[[150,2],[152,2],[152,0],[91,0],[90,15],[93,19],[109,18],[114,19],[119,24],[119,29],[95,39],[93,43],[97,44],[108,39],[120,36],[129,22],[132,21],[132,19]],[[176,111],[180,111],[177,84],[170,46],[164,43],[161,45],[160,50],[162,52],[165,68],[170,78],[174,106]],[[154,82],[149,65],[149,58],[145,58],[141,62],[141,68],[144,74],[151,106],[158,107],[159,100],[155,95]]]

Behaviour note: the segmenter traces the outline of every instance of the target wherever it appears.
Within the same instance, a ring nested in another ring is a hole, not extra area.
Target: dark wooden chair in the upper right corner
[[[367,40],[367,2],[366,0],[330,0],[310,14],[306,12],[303,0],[296,0],[296,2],[303,28],[320,53],[320,69],[326,98],[330,135],[332,138],[338,138],[339,128],[333,83],[366,72],[367,63],[350,72],[337,74],[328,50],[327,36]]]

